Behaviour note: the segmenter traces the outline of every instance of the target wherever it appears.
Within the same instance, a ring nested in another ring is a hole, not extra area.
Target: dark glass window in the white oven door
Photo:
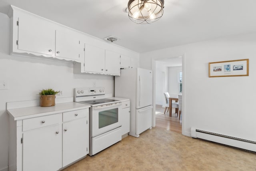
[[[99,112],[99,128],[118,122],[118,108]]]

